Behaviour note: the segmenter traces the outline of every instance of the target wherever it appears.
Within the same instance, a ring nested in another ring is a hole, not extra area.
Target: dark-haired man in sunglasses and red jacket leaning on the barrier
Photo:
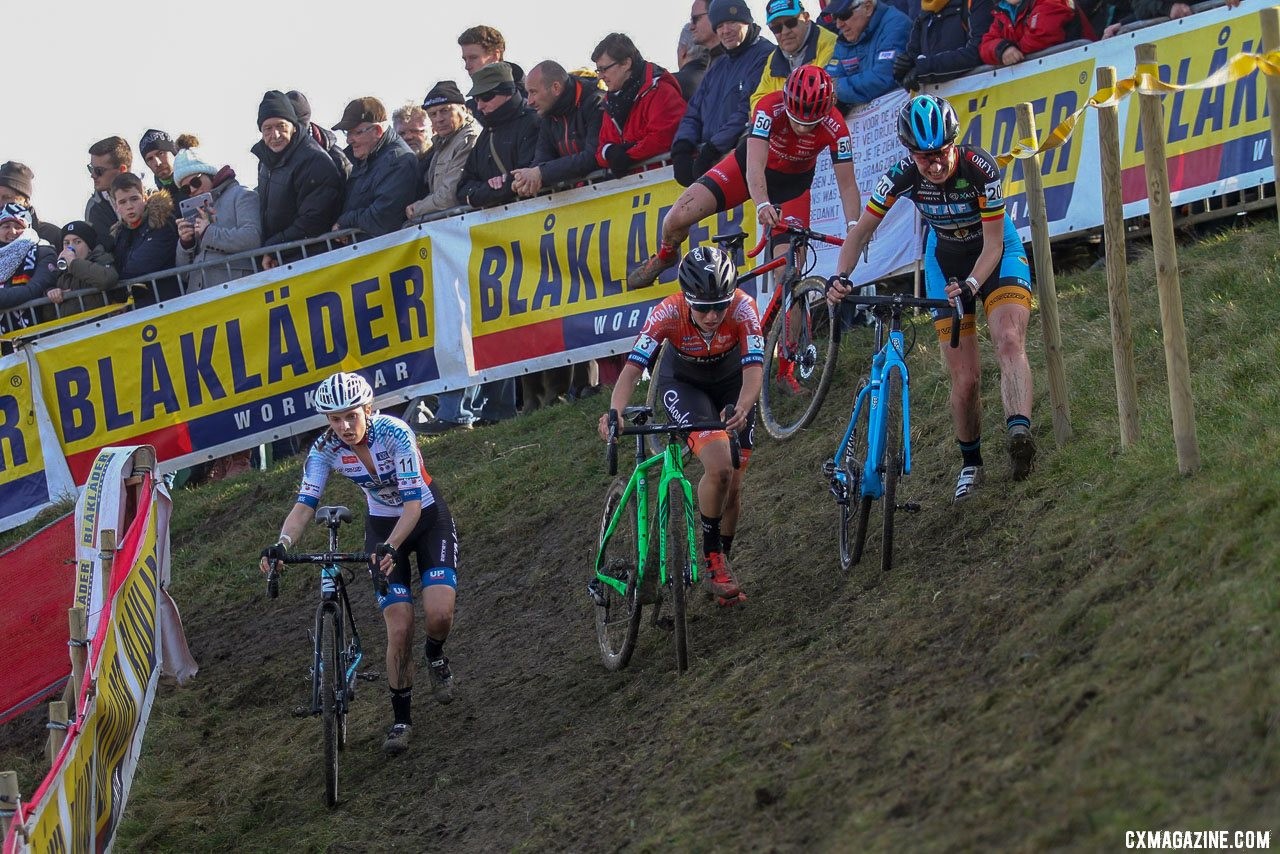
[[[676,77],[646,63],[635,42],[620,32],[595,46],[591,61],[609,87],[596,163],[625,175],[637,163],[671,151],[686,106]]]

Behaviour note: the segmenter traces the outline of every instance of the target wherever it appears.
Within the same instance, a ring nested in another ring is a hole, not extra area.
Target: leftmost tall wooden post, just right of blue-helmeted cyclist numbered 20
[[[1016,108],[1018,136],[1038,146],[1036,113],[1029,102]],[[1044,182],[1039,174],[1039,155],[1023,160],[1027,179],[1027,207],[1032,220],[1032,255],[1036,256],[1036,291],[1039,296],[1041,329],[1044,335],[1044,361],[1048,366],[1048,402],[1053,412],[1053,438],[1059,446],[1071,438],[1071,402],[1066,391],[1066,369],[1062,365],[1062,328],[1057,319],[1057,284],[1053,279],[1053,255],[1048,245],[1048,211],[1044,209]],[[1030,415],[1030,412],[1025,412]]]

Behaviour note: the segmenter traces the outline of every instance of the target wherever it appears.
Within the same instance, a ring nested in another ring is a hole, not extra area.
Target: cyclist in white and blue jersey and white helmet
[[[316,388],[315,407],[329,419],[326,430],[307,453],[297,503],[280,526],[275,545],[262,551],[261,568],[293,545],[315,517],[332,471],[365,492],[365,551],[375,556],[372,571],[387,576],[387,594],[378,597],[387,624],[387,681],[394,721],[383,749],[408,749],[412,732],[413,593],[410,554],[417,554],[426,613],[426,661],[431,693],[440,703],[453,699],[453,675],[444,641],[453,626],[457,590],[458,535],[453,516],[422,466],[412,429],[389,415],[374,414],[374,389],[358,374],[338,373]],[[280,565],[278,565],[279,568]]]

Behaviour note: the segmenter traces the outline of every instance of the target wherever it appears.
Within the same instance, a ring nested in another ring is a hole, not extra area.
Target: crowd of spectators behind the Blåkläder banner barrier
[[[502,33],[476,26],[457,40],[467,78],[440,79],[421,104],[390,115],[366,95],[330,129],[312,120],[301,92],[269,91],[256,117],[255,188],[202,159],[193,136],[155,128],[137,145],[143,183],[128,141],[111,136],[88,147],[83,220],[60,229],[36,214],[32,170],[0,164],[0,332],[31,323],[8,310],[38,297],[58,305],[69,292],[147,279],[132,298],[150,305],[302,257],[307,241],[328,237],[329,248],[351,229],[387,234],[600,170],[626,175],[655,157],[669,157],[687,186],[736,146],[756,101],[801,64],[824,68],[840,105],[852,109],[899,87],[1192,12],[1174,0],[763,0],[762,26],[751,9],[760,3],[692,0],[675,69],[612,32],[590,64],[544,59],[526,76],[507,59]],[[591,365],[529,378],[520,392],[506,380],[445,394],[436,429],[511,417],[520,398],[530,411],[612,379],[605,362],[598,378]]]

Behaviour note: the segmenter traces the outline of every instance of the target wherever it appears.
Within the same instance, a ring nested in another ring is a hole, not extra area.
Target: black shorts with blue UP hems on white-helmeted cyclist
[[[408,539],[396,549],[396,567],[387,577],[387,595],[378,598],[379,608],[387,608],[397,602],[412,604],[413,593],[410,590],[410,584],[413,570],[408,561],[411,554],[417,556],[417,572],[424,589],[438,584],[454,589],[458,586],[458,529],[435,484],[428,484],[428,489],[435,501],[422,511],[422,517],[417,520]],[[396,522],[394,516],[366,516],[365,551],[372,554],[381,543],[385,543]]]

